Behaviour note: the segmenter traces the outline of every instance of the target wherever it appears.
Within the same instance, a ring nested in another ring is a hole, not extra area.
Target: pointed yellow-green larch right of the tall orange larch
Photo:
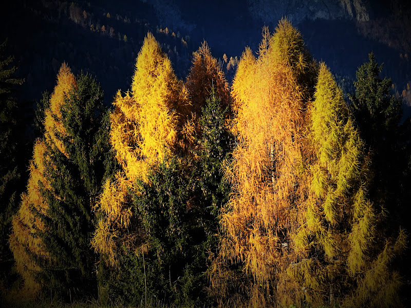
[[[400,279],[389,272],[389,262],[404,246],[403,232],[398,252],[389,241],[382,252],[370,251],[377,213],[366,199],[369,158],[343,93],[324,63],[314,98],[307,123],[314,159],[307,168],[307,199],[298,206],[300,227],[292,237],[298,261],[287,273],[313,306],[332,305],[337,299],[347,307],[391,306]]]

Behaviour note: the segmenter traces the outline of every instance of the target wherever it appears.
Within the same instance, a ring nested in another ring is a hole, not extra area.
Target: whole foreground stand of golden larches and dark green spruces
[[[401,305],[410,134],[390,81],[371,54],[347,104],[286,19],[257,54],[230,89],[204,42],[183,82],[149,32],[111,111],[63,64],[36,112],[8,298]]]

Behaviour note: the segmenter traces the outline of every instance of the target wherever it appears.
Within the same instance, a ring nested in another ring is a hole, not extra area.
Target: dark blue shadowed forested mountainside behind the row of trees
[[[227,55],[228,61],[231,56],[234,60],[237,56],[238,60],[245,46],[256,50],[262,25],[273,29],[282,16],[287,16],[284,10],[295,11],[301,6],[296,1],[283,7],[283,11],[272,8],[272,14],[269,10],[264,13],[270,16],[268,18],[252,11],[253,3],[244,0],[227,2],[219,7],[217,1],[201,6],[184,1],[153,4],[150,1],[125,1],[117,5],[109,1],[18,0],[4,4],[5,17],[1,23],[7,31],[3,31],[2,38],[4,41],[8,37],[10,53],[21,64],[19,73],[26,79],[24,99],[39,100],[39,92],[52,88],[60,64],[76,60],[70,64],[74,73],[81,70],[94,73],[110,100],[117,89],[129,84],[127,78],[133,72],[135,57],[147,31],[159,33],[156,36],[163,51],[169,54],[177,75],[182,78],[190,67],[192,52],[203,40],[209,43],[216,59],[224,62],[226,67],[223,54]],[[302,32],[315,59],[324,60],[333,72],[342,76],[353,79],[356,69],[373,51],[385,64],[383,73],[393,79],[401,94],[410,79],[409,4],[395,0],[364,3],[370,16],[367,22],[355,18],[331,19],[338,16],[314,21],[295,17],[297,20],[291,21]],[[264,5],[261,1],[260,10],[264,10]],[[338,15],[338,10],[335,14]],[[101,30],[102,26],[105,31]],[[170,33],[160,32],[165,28]],[[176,37],[172,36],[173,32]],[[124,42],[124,35],[127,42]],[[229,82],[233,76],[229,73]]]

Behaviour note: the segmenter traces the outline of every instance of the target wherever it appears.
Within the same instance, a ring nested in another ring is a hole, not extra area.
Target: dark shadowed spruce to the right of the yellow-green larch
[[[398,212],[404,197],[402,173],[408,167],[401,140],[406,138],[401,133],[404,126],[399,126],[401,100],[390,94],[391,80],[380,78],[382,65],[378,65],[375,55],[370,53],[368,57],[369,62],[357,71],[356,92],[350,95],[350,99],[361,135],[373,153],[372,199],[381,207]]]

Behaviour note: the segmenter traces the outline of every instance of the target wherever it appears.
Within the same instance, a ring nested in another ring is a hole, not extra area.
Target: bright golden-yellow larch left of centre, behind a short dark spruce
[[[165,155],[185,153],[195,127],[188,90],[151,33],[137,56],[132,90],[118,91],[113,104],[110,143],[121,170],[104,185],[91,245],[116,266],[122,246],[136,253],[144,246],[128,189],[135,189],[137,180],[147,181]]]

